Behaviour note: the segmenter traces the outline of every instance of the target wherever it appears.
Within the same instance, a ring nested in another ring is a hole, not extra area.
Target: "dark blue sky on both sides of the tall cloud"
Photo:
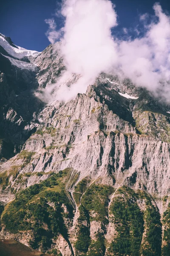
[[[20,47],[42,51],[50,44],[45,36],[48,25],[44,20],[54,17],[57,2],[60,0],[3,0],[0,6],[0,32],[10,36],[14,44]],[[170,13],[168,0],[113,0],[119,16],[116,33],[123,27],[134,28],[140,14],[153,14],[155,2]],[[60,20],[57,22],[59,28],[62,23]]]

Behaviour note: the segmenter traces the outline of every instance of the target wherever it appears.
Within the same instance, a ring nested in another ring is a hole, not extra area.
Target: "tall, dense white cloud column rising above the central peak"
[[[63,85],[60,79],[56,83],[56,98],[68,100],[77,93],[85,93],[100,72],[106,72],[116,63],[116,43],[111,28],[117,23],[116,12],[108,0],[65,0],[62,15],[65,26],[61,52],[68,70],[63,76],[66,79],[68,73],[70,77],[72,73],[80,75],[71,87]]]

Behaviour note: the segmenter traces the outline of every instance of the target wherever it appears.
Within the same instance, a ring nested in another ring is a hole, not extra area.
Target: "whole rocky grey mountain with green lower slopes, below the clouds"
[[[65,70],[60,43],[0,45],[1,239],[60,256],[170,255],[170,105],[106,73],[42,102]]]

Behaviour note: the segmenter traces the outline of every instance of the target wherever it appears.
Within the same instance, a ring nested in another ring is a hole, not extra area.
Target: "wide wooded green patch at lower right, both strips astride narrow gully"
[[[144,201],[144,211],[139,209],[138,200]],[[117,233],[109,248],[111,255],[161,255],[160,215],[146,192],[123,186],[116,191],[111,213]]]

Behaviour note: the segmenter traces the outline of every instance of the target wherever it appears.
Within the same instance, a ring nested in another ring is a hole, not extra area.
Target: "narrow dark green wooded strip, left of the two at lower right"
[[[125,186],[118,189],[116,195],[111,204],[111,213],[117,235],[109,252],[120,256],[139,256],[144,221],[136,203],[137,195]]]

